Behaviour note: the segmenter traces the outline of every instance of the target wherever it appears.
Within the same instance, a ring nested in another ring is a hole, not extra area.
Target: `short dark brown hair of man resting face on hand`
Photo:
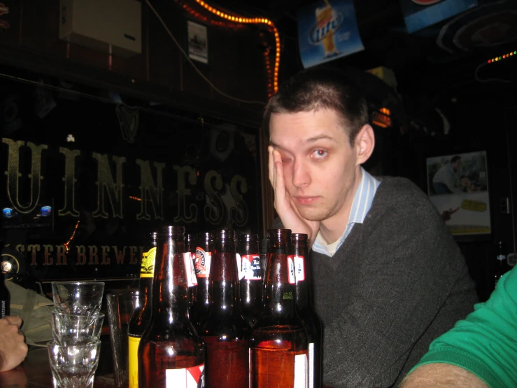
[[[368,124],[367,103],[360,88],[342,71],[320,66],[301,71],[281,85],[264,109],[262,125],[269,134],[271,113],[320,109],[332,109],[341,116],[350,144]]]

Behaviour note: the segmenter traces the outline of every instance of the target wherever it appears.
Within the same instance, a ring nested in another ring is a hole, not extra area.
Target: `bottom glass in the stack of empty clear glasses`
[[[101,342],[85,345],[58,345],[48,342],[48,358],[59,388],[85,388],[92,385],[99,364]]]

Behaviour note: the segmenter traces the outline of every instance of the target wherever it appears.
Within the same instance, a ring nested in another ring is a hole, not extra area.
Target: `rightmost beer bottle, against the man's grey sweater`
[[[309,351],[309,388],[322,386],[321,354],[322,328],[321,322],[312,305],[311,293],[311,263],[309,262],[309,248],[307,235],[292,233],[291,235],[292,261],[295,263],[296,278],[296,308],[298,317],[302,319],[307,333]]]

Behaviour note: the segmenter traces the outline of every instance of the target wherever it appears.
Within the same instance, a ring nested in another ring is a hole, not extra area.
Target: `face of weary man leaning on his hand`
[[[342,216],[346,223],[357,147],[350,146],[337,112],[273,113],[269,130],[271,145],[282,156],[285,189],[300,214],[310,221]]]

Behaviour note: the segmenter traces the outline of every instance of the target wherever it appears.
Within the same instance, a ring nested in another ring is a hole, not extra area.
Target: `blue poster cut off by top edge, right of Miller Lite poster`
[[[478,0],[399,0],[409,34],[458,15],[478,5]]]

